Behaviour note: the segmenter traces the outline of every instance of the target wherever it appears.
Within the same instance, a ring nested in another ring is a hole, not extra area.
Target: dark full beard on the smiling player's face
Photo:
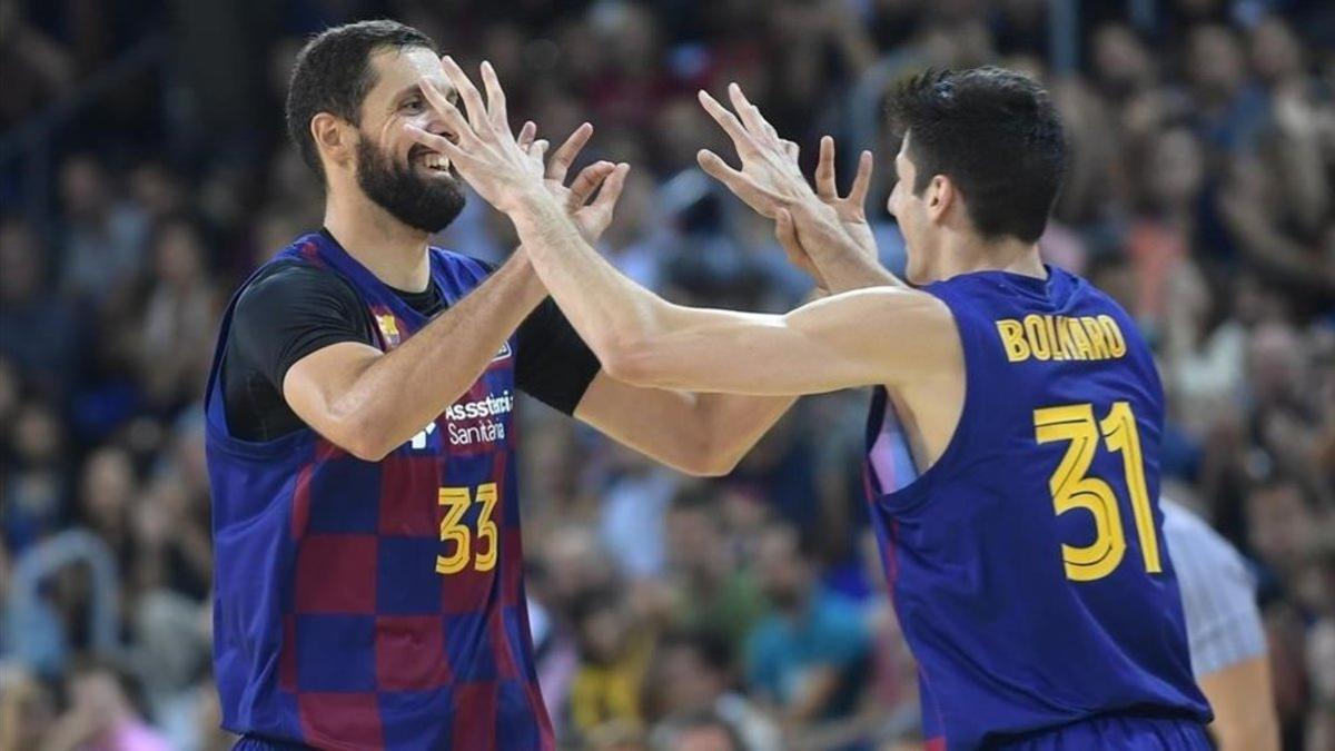
[[[356,184],[382,208],[423,233],[439,233],[463,210],[463,190],[455,178],[427,179],[388,156],[362,136],[356,144]]]

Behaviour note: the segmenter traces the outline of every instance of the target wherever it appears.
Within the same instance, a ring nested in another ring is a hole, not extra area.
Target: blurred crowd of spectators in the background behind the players
[[[634,166],[601,250],[672,299],[734,309],[789,309],[808,283],[694,167],[730,151],[696,90],[741,83],[808,167],[822,134],[841,158],[872,148],[898,269],[886,87],[984,63],[1045,82],[1072,164],[1044,254],[1153,343],[1164,494],[1254,567],[1284,747],[1315,751],[1335,722],[1335,12],[1071,5],[1063,28],[1047,0],[0,4],[0,751],[228,747],[203,378],[238,282],[320,222],[283,140],[292,56],[376,16],[490,59],[542,136],[590,120],[585,158]],[[474,196],[439,245],[515,243]],[[521,408],[533,636],[563,742],[914,747],[865,404],[802,400],[709,481]]]

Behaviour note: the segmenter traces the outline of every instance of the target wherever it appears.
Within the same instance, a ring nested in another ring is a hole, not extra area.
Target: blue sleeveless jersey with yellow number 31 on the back
[[[924,291],[955,317],[964,409],[916,476],[877,389],[866,482],[928,747],[1100,715],[1208,722],[1161,532],[1163,390],[1135,325],[1053,267]]]

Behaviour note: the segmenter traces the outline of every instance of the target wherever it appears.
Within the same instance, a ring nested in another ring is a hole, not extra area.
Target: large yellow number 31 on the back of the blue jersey
[[[1108,416],[1095,421],[1092,404],[1072,404],[1033,410],[1035,438],[1040,444],[1067,441],[1067,453],[1048,478],[1052,505],[1057,516],[1072,509],[1087,509],[1093,514],[1095,540],[1084,548],[1061,545],[1061,561],[1067,579],[1095,581],[1117,568],[1127,552],[1127,537],[1121,527],[1117,496],[1104,480],[1089,477],[1089,465],[1099,450],[1100,438],[1109,452],[1120,453],[1131,493],[1131,513],[1136,518],[1136,535],[1145,571],[1159,573],[1159,539],[1155,536],[1155,517],[1145,490],[1145,465],[1140,456],[1140,433],[1128,402],[1112,405]]]

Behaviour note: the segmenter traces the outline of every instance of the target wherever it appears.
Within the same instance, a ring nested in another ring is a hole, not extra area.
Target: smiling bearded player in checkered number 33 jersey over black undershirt
[[[553,748],[525,609],[515,392],[697,474],[730,470],[793,401],[619,382],[522,247],[499,269],[431,247],[465,196],[405,130],[446,132],[421,80],[451,91],[435,44],[396,23],[306,45],[287,120],[323,180],[324,226],[223,317],[206,398],[214,665],[244,748]],[[591,128],[546,166],[534,131],[518,139],[526,168],[595,241],[623,172],[599,162],[566,187]]]

